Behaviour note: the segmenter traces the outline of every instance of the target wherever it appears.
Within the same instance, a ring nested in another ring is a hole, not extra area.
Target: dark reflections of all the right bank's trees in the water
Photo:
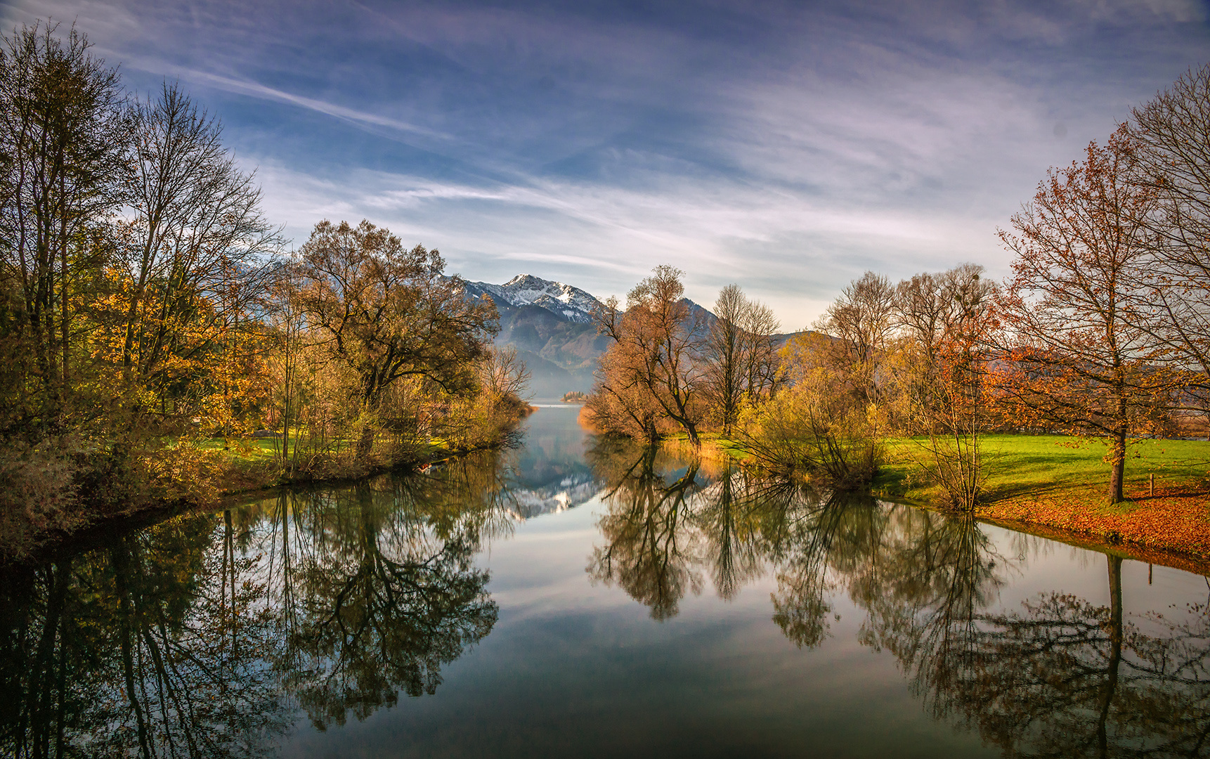
[[[786,638],[822,644],[830,599],[847,591],[865,613],[859,640],[895,656],[935,718],[1008,757],[1210,754],[1210,608],[1125,620],[1120,558],[1107,557],[1108,606],[1050,593],[992,614],[1025,552],[1001,556],[969,516],[736,468],[710,478],[701,462],[624,443],[599,442],[589,460],[607,511],[588,573],[657,620],[703,576],[730,598],[768,567]]]

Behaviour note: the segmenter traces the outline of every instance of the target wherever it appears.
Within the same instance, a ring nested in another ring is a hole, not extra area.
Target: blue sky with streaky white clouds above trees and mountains
[[[1210,7],[1049,2],[0,0],[134,92],[179,81],[298,246],[363,218],[448,271],[598,297],[658,264],[785,329],[963,261],[1049,167],[1210,62]]]

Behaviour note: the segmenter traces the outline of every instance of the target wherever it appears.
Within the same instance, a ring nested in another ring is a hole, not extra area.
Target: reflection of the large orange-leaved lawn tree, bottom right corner
[[[1110,605],[1049,593],[980,615],[934,712],[958,714],[1013,757],[1199,757],[1210,752],[1210,616],[1123,619],[1122,559],[1106,557]]]

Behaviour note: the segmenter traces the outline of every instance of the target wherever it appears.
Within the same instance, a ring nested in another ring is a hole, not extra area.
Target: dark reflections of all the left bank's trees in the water
[[[186,516],[0,585],[0,754],[271,753],[432,694],[496,604],[471,558],[508,529],[495,461]]]

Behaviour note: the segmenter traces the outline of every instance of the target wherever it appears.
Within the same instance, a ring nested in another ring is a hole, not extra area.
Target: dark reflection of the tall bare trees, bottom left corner
[[[231,519],[206,514],[6,577],[0,747],[259,753],[286,714],[254,564],[236,556]]]

